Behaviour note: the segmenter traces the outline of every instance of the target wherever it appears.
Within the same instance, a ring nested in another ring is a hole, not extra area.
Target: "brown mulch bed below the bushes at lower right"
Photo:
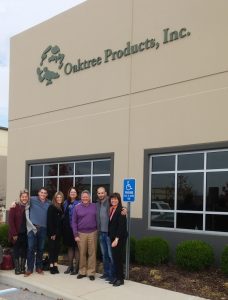
[[[228,278],[211,268],[201,272],[183,271],[175,265],[145,267],[131,265],[130,280],[212,300],[228,300]]]

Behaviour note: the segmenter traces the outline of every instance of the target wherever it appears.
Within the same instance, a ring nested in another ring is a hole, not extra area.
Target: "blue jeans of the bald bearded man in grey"
[[[103,260],[104,276],[112,280],[115,277],[111,240],[107,232],[99,232],[100,248]]]

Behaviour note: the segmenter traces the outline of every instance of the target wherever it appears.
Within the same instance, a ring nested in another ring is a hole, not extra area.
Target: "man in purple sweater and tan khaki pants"
[[[96,250],[97,250],[97,210],[96,204],[91,203],[88,191],[81,193],[81,203],[75,206],[72,217],[72,228],[75,241],[79,248],[78,279],[88,276],[95,279]]]

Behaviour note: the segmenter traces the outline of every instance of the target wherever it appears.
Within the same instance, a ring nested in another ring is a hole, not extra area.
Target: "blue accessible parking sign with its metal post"
[[[130,264],[130,236],[131,236],[131,202],[135,201],[135,179],[127,178],[123,182],[123,201],[127,203],[127,231],[128,239],[126,244],[126,270],[125,278],[129,279]]]

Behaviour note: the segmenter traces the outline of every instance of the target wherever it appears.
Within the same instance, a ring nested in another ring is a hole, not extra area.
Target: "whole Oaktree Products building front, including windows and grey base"
[[[132,235],[228,236],[228,2],[89,0],[11,39],[7,204],[122,193]],[[219,20],[219,21],[218,21]]]

